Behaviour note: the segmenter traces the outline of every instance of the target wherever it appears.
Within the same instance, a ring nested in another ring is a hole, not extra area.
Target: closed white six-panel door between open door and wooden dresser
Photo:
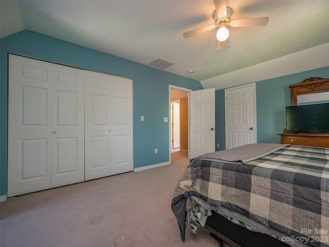
[[[225,90],[226,149],[257,142],[255,84]]]

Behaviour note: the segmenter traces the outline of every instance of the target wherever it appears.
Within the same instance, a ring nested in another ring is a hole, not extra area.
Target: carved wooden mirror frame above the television
[[[298,95],[329,92],[329,78],[310,77],[289,87],[291,105],[297,105]]]

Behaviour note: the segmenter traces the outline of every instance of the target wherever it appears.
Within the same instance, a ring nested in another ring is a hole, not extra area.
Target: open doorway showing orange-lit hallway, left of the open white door
[[[172,163],[172,153],[174,152],[185,152],[188,157],[190,91],[192,90],[169,85],[170,163]]]

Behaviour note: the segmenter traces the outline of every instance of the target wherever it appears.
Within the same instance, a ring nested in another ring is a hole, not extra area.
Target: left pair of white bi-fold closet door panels
[[[9,55],[8,197],[84,181],[84,72]]]

